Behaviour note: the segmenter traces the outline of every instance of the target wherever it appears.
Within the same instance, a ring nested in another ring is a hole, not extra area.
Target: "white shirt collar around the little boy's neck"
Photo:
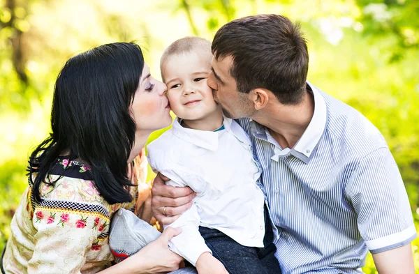
[[[249,138],[245,136],[246,133],[240,128],[235,121],[224,117],[223,119],[224,130],[228,132],[233,132],[233,135],[241,142],[246,144],[250,144]],[[239,127],[239,128],[237,128]],[[207,131],[207,130],[194,130],[192,128],[184,128],[179,123],[179,118],[176,118],[173,121],[172,125],[173,135],[178,137],[179,139],[184,140],[185,142],[189,142],[196,146],[199,146],[203,149],[208,149],[210,151],[216,151],[219,145],[219,135],[223,134],[223,130],[214,132],[214,131]]]

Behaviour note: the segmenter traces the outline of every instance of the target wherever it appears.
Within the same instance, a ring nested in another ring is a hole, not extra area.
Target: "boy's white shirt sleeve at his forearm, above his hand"
[[[175,222],[166,227],[180,227],[181,234],[173,237],[169,241],[169,248],[172,252],[184,257],[193,266],[204,252],[211,252],[210,248],[205,244],[203,236],[199,232],[200,217],[196,204],[193,204],[188,211],[183,213]]]

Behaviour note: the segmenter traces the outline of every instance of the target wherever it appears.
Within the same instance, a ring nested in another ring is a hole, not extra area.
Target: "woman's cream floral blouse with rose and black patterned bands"
[[[31,200],[30,185],[22,195],[3,258],[6,273],[97,273],[114,260],[110,218],[119,208],[135,208],[137,188],[130,189],[132,202],[110,205],[96,189],[90,167],[66,158],[57,162],[50,178],[64,176],[54,186],[42,185],[41,203]],[[134,183],[141,185],[135,172],[144,171],[133,169]]]

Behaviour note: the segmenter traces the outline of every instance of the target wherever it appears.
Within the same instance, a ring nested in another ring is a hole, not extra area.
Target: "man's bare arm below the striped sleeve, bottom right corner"
[[[411,244],[372,255],[379,274],[415,274]]]

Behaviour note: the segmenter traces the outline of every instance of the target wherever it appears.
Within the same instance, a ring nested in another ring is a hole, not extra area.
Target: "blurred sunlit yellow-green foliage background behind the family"
[[[381,130],[419,224],[419,1],[0,0],[0,248],[27,185],[29,151],[50,130],[54,80],[69,57],[137,40],[159,79],[159,58],[172,41],[188,35],[211,40],[229,20],[258,13],[301,22],[309,81]],[[376,273],[371,257],[364,271]]]

